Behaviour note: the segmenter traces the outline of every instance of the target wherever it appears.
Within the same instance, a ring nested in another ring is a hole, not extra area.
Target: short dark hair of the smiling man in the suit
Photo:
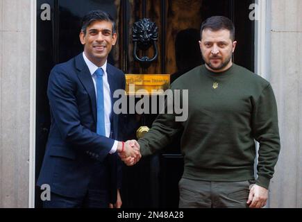
[[[107,21],[112,23],[112,34],[115,33],[115,21],[111,15],[102,10],[92,10],[88,12],[82,19],[81,31],[86,35],[86,28],[94,21]]]

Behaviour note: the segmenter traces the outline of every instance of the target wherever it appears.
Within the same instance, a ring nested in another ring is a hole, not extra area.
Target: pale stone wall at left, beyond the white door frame
[[[0,1],[0,207],[28,207],[31,1]]]

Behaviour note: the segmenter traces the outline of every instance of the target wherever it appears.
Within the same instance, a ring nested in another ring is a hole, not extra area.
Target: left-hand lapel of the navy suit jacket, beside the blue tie
[[[92,114],[94,121],[97,122],[97,99],[95,96],[95,89],[90,71],[84,61],[83,54],[76,56],[76,69],[78,69],[78,78],[85,87],[86,91],[90,96],[90,103],[92,107]]]

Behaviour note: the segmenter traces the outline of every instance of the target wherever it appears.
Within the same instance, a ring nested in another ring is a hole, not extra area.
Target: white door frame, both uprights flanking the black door
[[[256,0],[258,20],[255,21],[255,73],[269,80],[270,74],[270,9],[271,0]],[[36,121],[36,35],[37,1],[31,0],[31,75],[28,207],[35,207],[35,121]],[[267,19],[267,17],[269,19]]]

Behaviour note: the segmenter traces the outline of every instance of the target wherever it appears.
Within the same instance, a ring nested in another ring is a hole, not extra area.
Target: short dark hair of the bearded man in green
[[[230,31],[230,39],[232,41],[235,40],[235,26],[230,19],[224,16],[212,16],[208,19],[205,19],[205,21],[201,24],[201,38],[203,30],[209,28],[212,31],[219,31],[221,29],[226,29]]]

